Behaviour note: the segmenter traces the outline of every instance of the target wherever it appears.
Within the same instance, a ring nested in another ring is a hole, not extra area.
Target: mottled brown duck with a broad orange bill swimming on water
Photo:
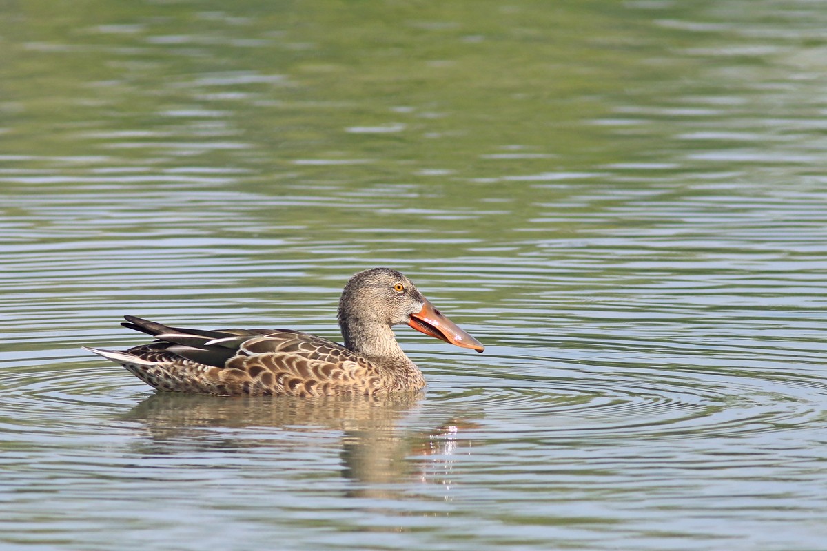
[[[391,329],[401,324],[461,348],[485,349],[391,268],[371,268],[348,280],[337,315],[343,344],[289,329],[184,329],[124,318],[121,325],[155,340],[127,350],[83,348],[120,363],[162,392],[374,396],[419,391],[425,386],[423,374]]]

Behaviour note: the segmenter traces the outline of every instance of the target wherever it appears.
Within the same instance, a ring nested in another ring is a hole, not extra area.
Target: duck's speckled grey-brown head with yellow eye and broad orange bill
[[[342,331],[357,325],[407,324],[415,330],[462,348],[482,352],[485,347],[449,320],[423,297],[413,282],[390,268],[356,273],[339,299]]]

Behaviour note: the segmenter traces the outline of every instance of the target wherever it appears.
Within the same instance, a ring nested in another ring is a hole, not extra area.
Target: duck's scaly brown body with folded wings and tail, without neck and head
[[[191,330],[132,316],[127,320],[123,325],[158,340],[125,351],[92,350],[160,390],[324,396],[400,389],[384,366],[300,331]],[[422,384],[413,382],[409,389],[418,387]]]

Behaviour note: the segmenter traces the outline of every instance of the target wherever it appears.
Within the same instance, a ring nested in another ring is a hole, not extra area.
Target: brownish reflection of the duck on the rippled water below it
[[[421,410],[423,397],[423,392],[301,399],[160,392],[141,401],[122,419],[141,422],[148,438],[136,444],[134,451],[154,456],[213,454],[217,449],[235,453],[274,446],[280,451],[306,452],[319,444],[314,435],[329,439],[330,430],[341,431],[342,477],[354,482],[347,496],[393,497],[400,493],[398,486],[394,490],[399,482],[446,484],[457,437],[461,430],[474,426],[447,419],[430,430],[404,429],[400,425]],[[264,430],[251,437],[246,428]],[[294,438],[297,433],[300,437]]]

